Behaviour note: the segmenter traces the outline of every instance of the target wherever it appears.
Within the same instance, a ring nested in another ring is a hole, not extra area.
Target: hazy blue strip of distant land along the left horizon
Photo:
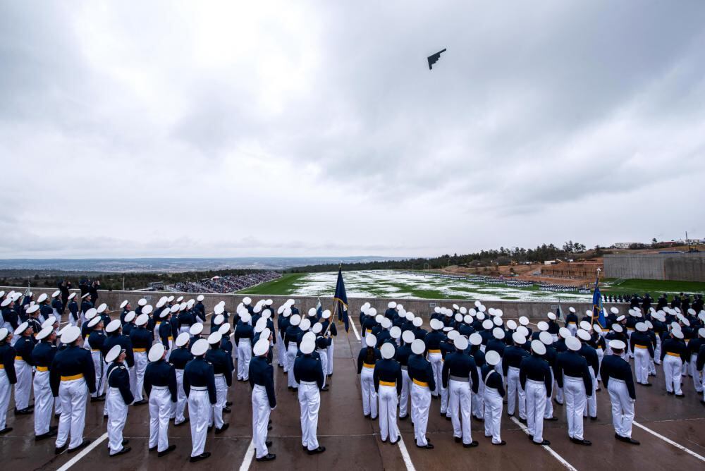
[[[0,259],[0,270],[61,270],[97,273],[178,272],[222,269],[283,270],[320,264],[401,260],[403,257],[233,257],[233,258],[115,258]]]

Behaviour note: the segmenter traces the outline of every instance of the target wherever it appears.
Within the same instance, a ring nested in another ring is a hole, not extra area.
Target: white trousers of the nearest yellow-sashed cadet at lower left
[[[61,398],[61,418],[59,433],[56,436],[56,448],[64,446],[71,433],[71,442],[68,444],[68,449],[71,450],[83,443],[88,399],[88,386],[85,379],[61,381],[59,397]]]

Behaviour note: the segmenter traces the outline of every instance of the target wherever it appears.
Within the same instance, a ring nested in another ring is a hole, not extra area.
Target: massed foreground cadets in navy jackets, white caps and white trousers
[[[107,305],[94,307],[90,297],[85,293],[79,307],[75,293],[63,290],[51,298],[42,294],[37,302],[31,294],[22,299],[21,293],[0,291],[0,434],[12,429],[6,415],[14,386],[15,414],[33,413],[35,439],[56,436],[57,454],[78,451],[90,444],[83,437],[90,397],[105,401],[109,456],[115,457],[130,451],[123,439],[129,406],[149,404],[149,451],[158,457],[171,453],[176,445],[168,441],[169,422],[189,423],[190,461],[197,462],[210,455],[207,433],[229,427],[223,413],[231,412],[226,398],[234,374],[252,389],[255,458],[274,460],[267,432],[276,408],[273,349],[278,344],[276,363],[298,396],[302,449],[312,455],[325,451],[317,427],[320,392],[328,390],[333,374],[337,330],[330,311],[311,309],[304,315],[288,300],[275,322],[272,300],[252,305],[244,298],[235,314],[221,301],[207,314],[202,295],[188,301],[164,296],[154,307],[142,298],[135,310],[124,301],[119,318],[111,319]],[[68,320],[59,330],[67,301]],[[583,420],[597,418],[601,382],[611,400],[615,438],[639,444],[631,436],[636,391],[630,359],[637,384],[651,386],[649,377],[662,365],[669,395],[682,397],[682,378],[689,375],[705,403],[705,311],[693,305],[684,311],[660,299],[656,308],[644,309],[635,302],[622,315],[611,307],[605,329],[591,311],[578,319],[570,307],[564,326],[549,312],[533,331],[527,317],[505,321],[501,310],[479,301],[469,310],[435,307],[428,330],[422,317],[401,304],[389,302],[384,314],[377,314],[368,302],[360,312],[357,355],[362,413],[379,419],[381,440],[392,444],[401,439],[397,420],[410,417],[416,446],[431,449],[428,418],[432,398],[440,398],[440,413],[452,422],[458,444],[478,446],[472,416],[484,422],[491,444],[503,446],[506,398],[508,416],[518,415],[534,444],[548,445],[543,424],[557,420],[555,401],[565,405],[570,441],[590,445]],[[58,426],[51,425],[52,412]]]

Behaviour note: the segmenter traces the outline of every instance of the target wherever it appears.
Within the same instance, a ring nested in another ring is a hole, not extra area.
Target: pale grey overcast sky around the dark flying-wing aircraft
[[[705,237],[704,1],[242,3],[0,3],[0,258]]]

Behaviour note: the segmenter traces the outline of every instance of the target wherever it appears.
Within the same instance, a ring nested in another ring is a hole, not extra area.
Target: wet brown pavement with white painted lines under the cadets
[[[223,416],[230,428],[221,435],[209,432],[206,451],[212,456],[200,463],[189,463],[190,428],[169,426],[169,443],[176,450],[163,458],[147,450],[149,410],[147,405],[130,407],[125,439],[132,451],[109,458],[103,403],[89,403],[84,435],[92,444],[75,454],[54,455],[54,437],[35,443],[32,415],[14,415],[11,401],[8,427],[13,431],[0,437],[0,456],[6,470],[434,470],[502,469],[502,470],[697,470],[705,469],[705,407],[694,392],[692,379],[683,378],[685,398],[667,396],[663,372],[657,366],[652,387],[636,385],[637,403],[632,437],[641,446],[625,444],[614,438],[608,393],[597,393],[598,420],[585,420],[584,436],[592,446],[572,444],[568,439],[565,407],[554,402],[556,422],[544,422],[544,439],[551,446],[537,446],[529,441],[525,427],[502,414],[502,439],[506,446],[493,446],[484,436],[482,422],[472,420],[472,439],[477,448],[463,448],[453,441],[450,420],[440,415],[440,399],[431,403],[427,436],[434,450],[415,446],[410,420],[398,421],[402,440],[383,443],[376,421],[362,416],[360,379],[355,362],[360,350],[359,326],[348,336],[335,339],[333,377],[330,391],[321,393],[318,438],[325,453],[307,455],[301,448],[299,404],[296,393],[288,391],[286,376],[275,367],[277,407],[271,412],[273,427],[268,438],[273,441],[270,453],[276,460],[257,463],[252,447],[252,403],[249,383],[233,379],[228,400],[233,401],[230,414]],[[276,362],[276,353],[274,355]],[[54,419],[52,424],[58,424]]]

